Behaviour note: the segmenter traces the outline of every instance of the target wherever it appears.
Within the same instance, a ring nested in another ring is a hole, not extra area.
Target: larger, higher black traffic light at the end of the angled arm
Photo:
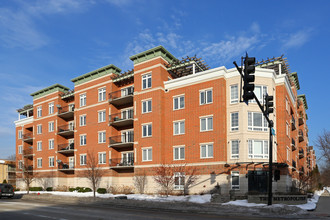
[[[243,86],[243,100],[248,102],[250,99],[254,98],[254,80],[255,76],[255,57],[245,56],[244,59],[244,86]]]

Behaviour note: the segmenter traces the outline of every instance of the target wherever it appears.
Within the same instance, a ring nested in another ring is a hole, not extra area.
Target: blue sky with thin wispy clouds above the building
[[[0,158],[15,152],[16,109],[30,93],[163,45],[177,58],[234,67],[288,58],[308,102],[310,144],[330,124],[330,1],[2,0],[0,2]]]

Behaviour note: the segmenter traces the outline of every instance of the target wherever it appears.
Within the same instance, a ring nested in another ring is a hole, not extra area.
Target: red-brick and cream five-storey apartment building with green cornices
[[[185,164],[199,174],[191,193],[216,185],[222,192],[266,190],[268,125],[254,101],[239,102],[236,69],[178,60],[162,46],[130,59],[131,71],[111,64],[72,79],[73,90],[55,84],[31,94],[33,105],[15,121],[18,186],[24,167],[53,187],[89,186],[82,172],[93,154],[106,172],[100,187],[133,185],[146,173],[146,191],[156,192],[154,167]],[[255,75],[259,100],[274,96],[273,189],[290,191],[316,165],[306,97],[283,57],[259,62]]]

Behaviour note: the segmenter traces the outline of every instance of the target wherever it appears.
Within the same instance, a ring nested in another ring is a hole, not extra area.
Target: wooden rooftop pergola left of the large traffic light
[[[205,61],[202,60],[202,58],[197,58],[196,55],[193,57],[183,57],[181,60],[175,60],[169,64],[165,64],[167,71],[172,75],[173,78],[193,74],[194,65],[195,73],[210,69]]]

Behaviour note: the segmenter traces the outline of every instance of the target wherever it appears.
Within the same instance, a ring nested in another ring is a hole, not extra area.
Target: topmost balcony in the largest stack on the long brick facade
[[[109,103],[115,106],[133,105],[134,87],[109,93]]]

